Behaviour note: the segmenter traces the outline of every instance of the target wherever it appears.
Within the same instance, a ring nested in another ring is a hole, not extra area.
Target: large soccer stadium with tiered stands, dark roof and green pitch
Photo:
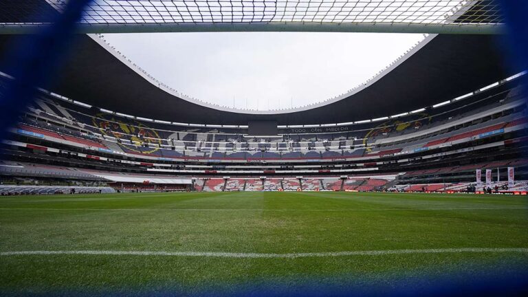
[[[0,1],[0,295],[525,296],[527,13]],[[160,32],[426,35],[347,93],[256,110],[107,41]]]

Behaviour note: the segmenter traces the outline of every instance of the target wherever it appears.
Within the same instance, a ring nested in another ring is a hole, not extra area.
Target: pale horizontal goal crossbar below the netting
[[[0,34],[34,34],[45,23],[0,24]],[[78,24],[76,33],[162,33],[162,32],[356,32],[419,34],[503,34],[503,24],[423,23],[105,23]]]

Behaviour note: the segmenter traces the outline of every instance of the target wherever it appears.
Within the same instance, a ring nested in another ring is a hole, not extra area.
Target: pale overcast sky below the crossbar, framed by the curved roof
[[[283,109],[347,92],[422,34],[104,34],[108,43],[181,93],[223,106]]]

